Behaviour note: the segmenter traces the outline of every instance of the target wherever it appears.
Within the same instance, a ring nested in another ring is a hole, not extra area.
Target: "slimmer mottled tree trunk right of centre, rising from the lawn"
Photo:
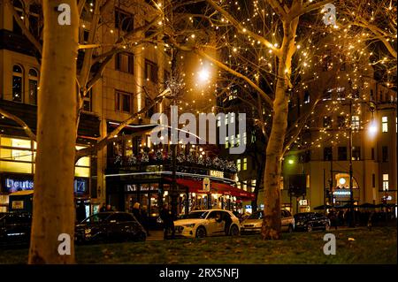
[[[295,53],[295,31],[299,18],[283,23],[284,37],[279,54],[278,79],[273,101],[273,118],[270,138],[265,150],[264,171],[264,240],[280,238],[280,171],[287,132],[288,87],[291,61]]]

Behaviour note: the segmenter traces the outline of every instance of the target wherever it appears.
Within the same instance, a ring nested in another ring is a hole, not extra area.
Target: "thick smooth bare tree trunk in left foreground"
[[[71,8],[71,25],[59,25],[59,4]],[[38,95],[34,215],[29,263],[74,263],[73,202],[76,142],[76,57],[78,10],[75,0],[43,1],[42,79]],[[58,236],[70,235],[71,255],[59,255]]]

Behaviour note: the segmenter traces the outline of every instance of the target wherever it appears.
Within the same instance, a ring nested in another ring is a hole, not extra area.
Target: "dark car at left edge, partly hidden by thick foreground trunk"
[[[0,246],[28,246],[32,215],[21,212],[0,213]]]

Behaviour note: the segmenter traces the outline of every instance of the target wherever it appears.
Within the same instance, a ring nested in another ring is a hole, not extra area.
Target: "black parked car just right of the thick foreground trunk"
[[[147,234],[142,225],[127,212],[100,212],[87,217],[76,225],[77,243],[143,241]]]

